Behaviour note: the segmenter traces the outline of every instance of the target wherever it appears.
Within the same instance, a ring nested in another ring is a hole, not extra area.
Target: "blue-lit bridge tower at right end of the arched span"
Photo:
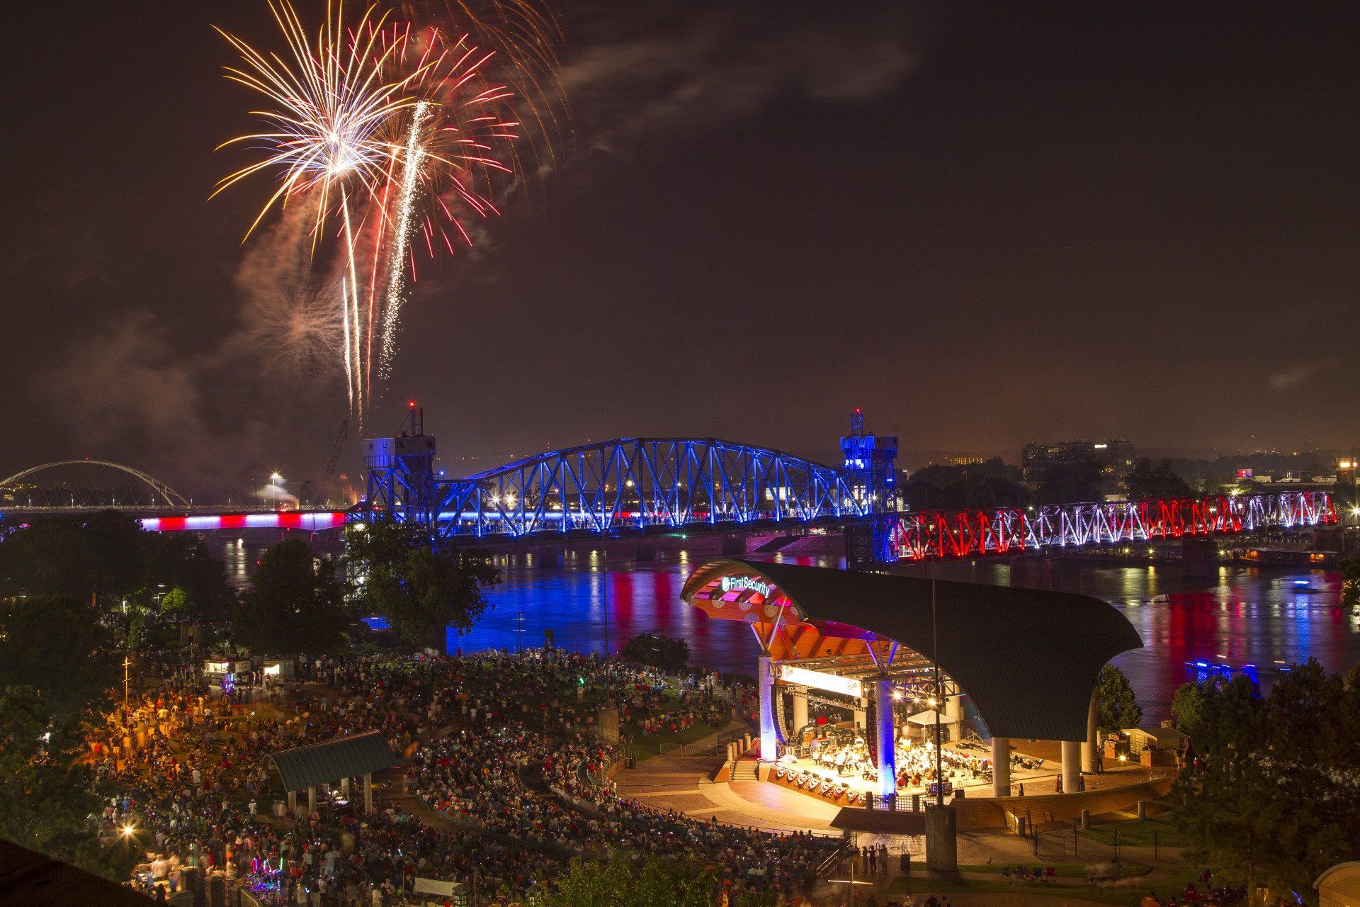
[[[845,462],[840,466],[854,496],[868,504],[876,519],[869,525],[846,526],[846,562],[851,567],[896,560],[892,551],[892,514],[898,510],[898,439],[864,428],[864,411],[850,415],[850,434],[840,439]]]

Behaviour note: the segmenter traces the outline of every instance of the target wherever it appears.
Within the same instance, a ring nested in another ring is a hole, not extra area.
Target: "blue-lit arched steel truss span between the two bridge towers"
[[[428,515],[404,518],[424,517],[445,538],[843,522],[876,504],[842,470],[713,438],[623,438],[430,483],[428,498],[405,496],[428,500]],[[400,510],[400,499],[379,490],[371,504]]]

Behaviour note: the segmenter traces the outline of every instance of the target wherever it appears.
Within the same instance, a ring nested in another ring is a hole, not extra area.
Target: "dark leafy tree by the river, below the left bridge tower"
[[[352,600],[416,647],[442,650],[450,627],[472,630],[490,606],[483,590],[500,582],[487,552],[437,541],[419,524],[378,519],[347,543]]]

